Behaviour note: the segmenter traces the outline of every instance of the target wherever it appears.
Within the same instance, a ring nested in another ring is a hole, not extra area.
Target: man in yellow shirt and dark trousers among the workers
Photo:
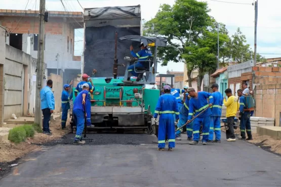
[[[226,120],[227,120],[227,130],[226,130],[226,139],[227,141],[236,141],[234,134],[234,118],[237,112],[237,98],[232,95],[232,90],[227,88],[225,91],[227,98],[223,98],[223,104],[226,106]]]

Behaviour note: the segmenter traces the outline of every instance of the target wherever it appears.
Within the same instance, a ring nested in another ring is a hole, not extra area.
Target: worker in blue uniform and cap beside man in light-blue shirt
[[[70,108],[69,100],[72,99],[70,98],[68,91],[70,90],[70,86],[73,84],[71,81],[70,84],[65,84],[63,86],[63,91],[61,93],[61,109],[62,109],[62,115],[61,115],[61,128],[64,129],[66,126],[66,120],[67,120],[67,113],[68,109]]]

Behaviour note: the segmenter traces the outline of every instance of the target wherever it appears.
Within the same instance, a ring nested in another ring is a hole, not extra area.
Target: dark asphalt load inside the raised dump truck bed
[[[140,28],[116,28],[114,26],[87,27],[84,72],[92,75],[96,69],[95,77],[113,77],[113,62],[115,53],[115,31],[118,33],[117,59],[118,63],[125,63],[124,57],[131,56],[130,45],[135,52],[140,50],[139,42],[121,41],[120,37],[126,35],[140,35]],[[118,76],[123,77],[125,67],[118,66]]]

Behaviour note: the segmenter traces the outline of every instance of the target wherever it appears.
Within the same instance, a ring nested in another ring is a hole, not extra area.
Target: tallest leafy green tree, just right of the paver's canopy
[[[144,34],[163,36],[168,44],[177,48],[167,47],[158,49],[158,58],[162,65],[169,61],[184,62],[187,68],[188,84],[191,87],[191,72],[197,63],[184,58],[188,47],[195,44],[196,39],[210,25],[210,9],[207,3],[195,0],[177,0],[174,6],[164,4],[156,16],[144,25]]]

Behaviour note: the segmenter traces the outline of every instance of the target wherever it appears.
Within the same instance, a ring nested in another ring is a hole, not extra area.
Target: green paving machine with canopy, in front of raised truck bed
[[[155,74],[157,72],[156,54],[158,47],[166,47],[167,40],[163,38],[147,37],[140,35],[127,35],[119,40],[129,40],[142,42],[150,46],[153,56],[146,61],[146,67],[135,67],[135,71],[143,74],[141,81],[131,77],[128,81],[128,66],[136,64],[137,59],[124,57],[123,64],[118,64],[116,58],[117,51],[117,32],[115,40],[115,57],[113,65],[113,77],[96,78],[92,77],[95,90],[91,93],[91,122],[95,127],[88,128],[91,131],[115,130],[124,131],[145,130],[148,133],[155,133],[152,128],[152,115],[160,95],[160,90],[145,88],[145,85],[155,84]],[[117,77],[119,65],[126,66],[125,76]],[[74,88],[73,88],[74,91]],[[73,94],[73,103],[75,96]],[[71,117],[71,130],[75,130],[76,124]]]

